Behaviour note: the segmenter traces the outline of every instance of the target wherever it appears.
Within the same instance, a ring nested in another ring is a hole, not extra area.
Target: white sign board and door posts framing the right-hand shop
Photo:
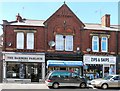
[[[92,56],[84,55],[83,56],[84,65],[87,64],[102,64],[103,65],[103,77],[104,77],[104,68],[114,65],[114,72],[116,74],[116,57],[115,56]]]

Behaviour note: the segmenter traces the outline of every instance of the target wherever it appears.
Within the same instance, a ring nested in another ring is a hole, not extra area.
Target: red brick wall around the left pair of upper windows
[[[14,28],[35,28],[35,44],[34,44],[34,51],[45,51],[44,45],[45,45],[45,30],[43,27],[32,27],[32,26],[6,26],[5,30],[5,48],[4,50],[6,51],[16,51],[16,32],[14,32]],[[25,39],[26,39],[26,34],[24,32]],[[6,43],[11,42],[11,46],[7,46]],[[30,51],[26,50],[26,40],[25,40],[25,49],[24,51]],[[6,49],[7,48],[7,49]]]

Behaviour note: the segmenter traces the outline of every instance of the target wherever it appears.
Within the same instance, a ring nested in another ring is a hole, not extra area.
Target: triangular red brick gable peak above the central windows
[[[55,25],[61,23],[62,26],[64,26],[64,24],[71,25],[71,23],[77,23],[80,27],[85,26],[65,3],[51,17],[49,17],[44,24],[49,25],[49,23],[52,23],[53,25],[54,22]]]

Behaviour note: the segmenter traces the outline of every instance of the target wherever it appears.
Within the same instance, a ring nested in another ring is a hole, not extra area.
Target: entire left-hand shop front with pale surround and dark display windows
[[[44,53],[3,53],[3,82],[39,82],[44,77]]]

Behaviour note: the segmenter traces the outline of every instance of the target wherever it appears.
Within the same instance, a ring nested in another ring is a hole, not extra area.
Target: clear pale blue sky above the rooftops
[[[9,1],[9,0],[8,0]],[[0,24],[2,20],[14,21],[16,15],[20,13],[22,18],[46,20],[64,3],[61,2],[0,2]],[[101,23],[101,17],[110,14],[111,24],[118,24],[118,2],[81,2],[81,1],[65,1],[68,7],[76,14],[83,23]],[[0,27],[0,34],[2,34]]]

